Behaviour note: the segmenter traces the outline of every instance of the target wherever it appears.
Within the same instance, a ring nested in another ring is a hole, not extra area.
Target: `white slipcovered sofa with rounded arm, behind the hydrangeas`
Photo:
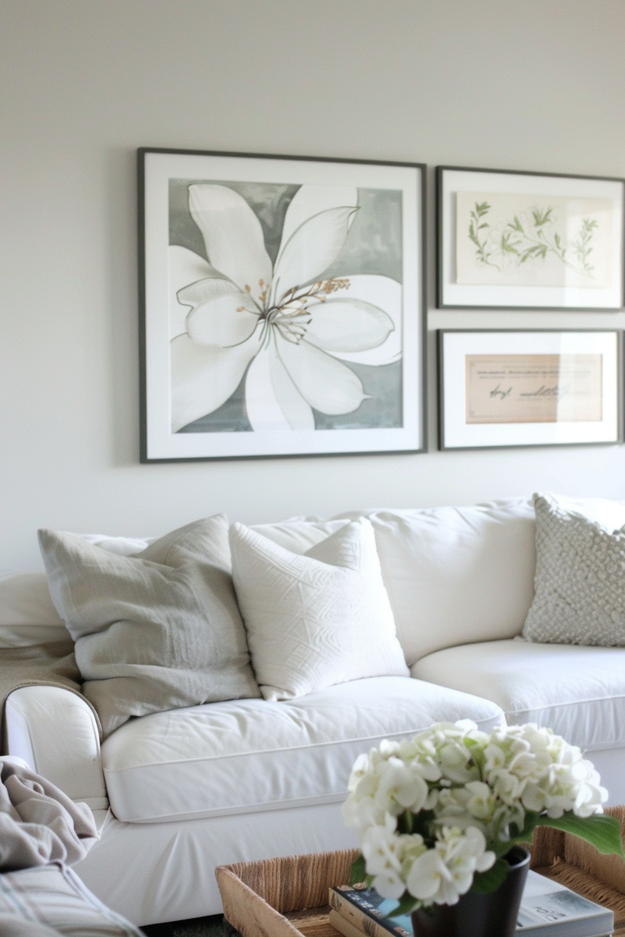
[[[576,507],[610,530],[625,524],[621,504]],[[609,802],[625,802],[625,648],[520,637],[533,597],[531,498],[366,516],[411,678],[155,713],[101,746],[77,694],[32,686],[8,697],[10,753],[97,813],[101,838],[76,871],[113,910],[138,924],[215,914],[216,865],[354,845],[340,805],[356,755],[434,721],[550,726],[588,751]],[[303,553],[341,523],[255,529]],[[0,646],[63,634],[46,589],[43,573],[0,580]]]

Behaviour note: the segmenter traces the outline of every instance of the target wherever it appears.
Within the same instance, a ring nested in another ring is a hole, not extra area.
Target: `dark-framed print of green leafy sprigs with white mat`
[[[439,307],[620,308],[624,187],[439,166]]]

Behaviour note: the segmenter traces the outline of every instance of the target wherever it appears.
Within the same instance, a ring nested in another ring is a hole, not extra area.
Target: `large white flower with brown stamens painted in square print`
[[[254,432],[310,431],[320,415],[356,413],[373,396],[358,366],[396,364],[403,350],[402,284],[362,263],[342,269],[358,188],[297,187],[277,249],[235,187],[186,190],[204,251],[169,247],[171,431],[241,387]]]

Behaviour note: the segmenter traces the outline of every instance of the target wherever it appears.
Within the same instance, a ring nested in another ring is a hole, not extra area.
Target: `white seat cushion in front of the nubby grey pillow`
[[[486,641],[428,654],[410,673],[484,696],[511,725],[537,722],[582,749],[625,745],[625,648]]]

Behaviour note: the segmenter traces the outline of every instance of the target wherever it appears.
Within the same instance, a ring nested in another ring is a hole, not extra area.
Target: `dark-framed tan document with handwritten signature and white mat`
[[[439,331],[439,448],[618,442],[618,331]]]

